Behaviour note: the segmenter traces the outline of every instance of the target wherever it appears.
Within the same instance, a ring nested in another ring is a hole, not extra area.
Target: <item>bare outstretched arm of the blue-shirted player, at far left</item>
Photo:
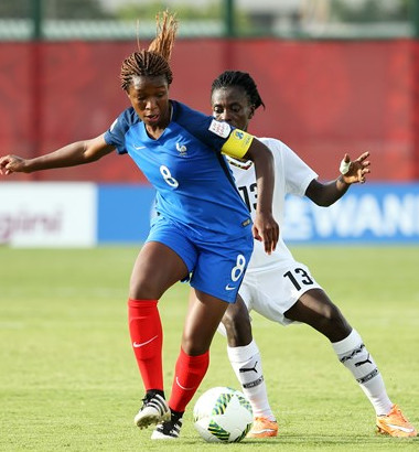
[[[114,147],[106,143],[104,134],[100,134],[90,140],[76,141],[64,146],[56,151],[34,159],[23,159],[9,154],[0,158],[0,174],[33,173],[54,168],[76,166],[99,160],[114,149]]]

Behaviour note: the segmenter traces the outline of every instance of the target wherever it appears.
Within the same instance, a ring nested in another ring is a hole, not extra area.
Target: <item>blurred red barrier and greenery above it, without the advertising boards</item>
[[[120,64],[137,36],[148,45],[163,9],[155,1],[43,0],[35,23],[36,1],[0,2],[1,154],[33,157],[106,131],[129,106]],[[419,179],[411,2],[236,0],[234,37],[226,36],[232,2],[187,3],[164,2],[181,22],[172,98],[210,114],[212,80],[225,69],[246,71],[266,104],[250,131],[281,139],[325,179],[336,176],[345,152],[365,150],[372,180]],[[13,180],[144,182],[129,158],[117,155]]]

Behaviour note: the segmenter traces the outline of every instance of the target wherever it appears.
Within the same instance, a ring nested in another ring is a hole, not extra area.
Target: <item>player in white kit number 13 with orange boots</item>
[[[212,84],[213,116],[241,130],[247,130],[255,111],[264,101],[249,74],[226,71]],[[318,174],[288,146],[272,138],[259,139],[272,152],[275,160],[273,216],[283,224],[287,194],[307,196],[316,205],[329,207],[340,200],[354,183],[364,183],[369,170],[368,152],[356,160],[346,153],[340,175],[319,182]],[[256,213],[256,175],[251,162],[229,159],[236,186],[251,216]],[[283,239],[270,256],[262,252],[262,244],[255,240],[236,303],[229,304],[219,330],[227,334],[227,353],[243,391],[254,409],[254,426],[248,438],[278,434],[278,424],[270,409],[262,372],[262,359],[251,334],[248,311],[287,325],[305,323],[323,334],[339,360],[351,372],[376,413],[380,433],[391,437],[416,437],[417,431],[389,399],[373,356],[358,332],[341,310],[316,283],[307,266],[296,261]],[[247,306],[247,309],[246,309]]]

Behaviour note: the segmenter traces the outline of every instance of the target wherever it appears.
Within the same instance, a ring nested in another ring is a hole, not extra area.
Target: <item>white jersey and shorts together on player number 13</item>
[[[259,138],[259,141],[273,154],[276,183],[272,207],[275,218],[282,225],[286,195],[304,196],[307,187],[318,174],[280,140]],[[229,157],[227,160],[238,191],[254,217],[257,205],[255,166],[251,161],[241,162]],[[255,240],[254,252],[239,290],[249,311],[255,310],[273,322],[287,325],[292,320],[286,319],[283,313],[305,291],[314,288],[321,287],[308,267],[294,260],[281,236],[271,255],[264,252],[264,245]]]

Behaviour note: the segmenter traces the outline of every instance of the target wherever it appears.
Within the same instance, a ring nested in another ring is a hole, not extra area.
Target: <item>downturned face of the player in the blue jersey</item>
[[[128,97],[147,128],[164,129],[170,122],[169,85],[163,75],[132,77]]]

